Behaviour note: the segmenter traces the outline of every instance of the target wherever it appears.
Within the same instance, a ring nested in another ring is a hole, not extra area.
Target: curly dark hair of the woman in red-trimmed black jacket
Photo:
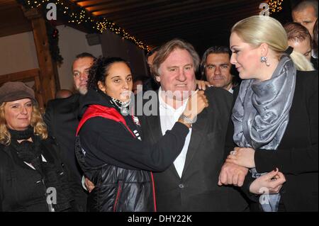
[[[98,82],[101,81],[102,83],[105,83],[105,79],[108,76],[108,69],[116,62],[123,62],[130,68],[130,64],[121,57],[99,57],[94,60],[94,64],[89,70],[87,88],[98,90]]]

